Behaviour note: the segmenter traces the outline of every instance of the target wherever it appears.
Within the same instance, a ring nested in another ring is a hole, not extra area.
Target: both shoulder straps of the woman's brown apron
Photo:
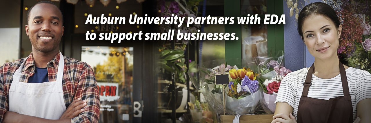
[[[339,70],[340,70],[341,84],[343,87],[344,96],[349,96],[347,73],[345,72],[345,68],[340,61],[339,61]],[[312,85],[311,81],[312,81],[313,71],[314,71],[314,63],[312,64],[311,68],[309,68],[308,73],[306,74],[302,96],[308,96],[309,87]]]

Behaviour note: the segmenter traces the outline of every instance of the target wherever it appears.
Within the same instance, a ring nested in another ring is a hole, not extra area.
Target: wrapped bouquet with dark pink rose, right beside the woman
[[[280,59],[283,59],[283,55],[278,58],[278,61]],[[265,112],[271,114],[276,109],[275,102],[281,81],[291,70],[281,66],[280,62],[273,60],[271,57],[256,57],[256,61],[259,61],[261,77],[258,78],[258,81],[263,90],[260,103]]]

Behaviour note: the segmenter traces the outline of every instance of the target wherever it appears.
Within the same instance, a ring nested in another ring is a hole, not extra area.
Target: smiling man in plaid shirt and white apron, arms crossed
[[[0,123],[98,123],[99,91],[92,68],[63,57],[63,16],[49,1],[27,13],[32,53],[0,67]]]

